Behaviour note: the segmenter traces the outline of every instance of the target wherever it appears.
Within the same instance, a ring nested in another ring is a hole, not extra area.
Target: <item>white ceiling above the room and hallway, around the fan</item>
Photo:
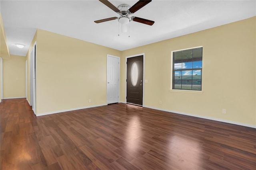
[[[137,1],[110,2],[117,7]],[[118,36],[117,20],[94,23],[118,16],[98,0],[1,0],[0,10],[10,54],[25,56],[36,28],[123,51],[256,16],[256,1],[152,0],[131,16],[153,20],[154,25],[131,21],[130,37]],[[15,43],[26,47],[19,49]]]

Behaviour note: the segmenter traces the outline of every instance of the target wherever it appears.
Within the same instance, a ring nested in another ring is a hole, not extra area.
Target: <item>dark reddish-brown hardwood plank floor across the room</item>
[[[2,100],[1,170],[256,170],[256,129],[126,104],[36,117]]]

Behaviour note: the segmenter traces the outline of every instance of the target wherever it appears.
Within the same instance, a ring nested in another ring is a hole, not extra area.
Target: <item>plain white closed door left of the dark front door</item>
[[[118,103],[119,57],[107,55],[107,104]]]

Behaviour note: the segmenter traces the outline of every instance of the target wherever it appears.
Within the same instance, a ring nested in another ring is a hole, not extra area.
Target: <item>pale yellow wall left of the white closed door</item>
[[[107,54],[121,56],[118,50],[38,29],[36,112],[106,104]]]

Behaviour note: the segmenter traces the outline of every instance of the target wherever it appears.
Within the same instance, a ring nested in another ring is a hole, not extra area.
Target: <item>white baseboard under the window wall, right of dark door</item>
[[[161,110],[161,111],[167,111],[167,112],[171,112],[171,113],[177,113],[177,114],[181,114],[181,115],[193,116],[193,117],[198,117],[198,118],[203,118],[203,119],[208,119],[208,120],[220,121],[220,122],[224,122],[224,123],[231,123],[231,124],[234,124],[234,125],[256,128],[256,125],[250,125],[250,124],[245,124],[245,123],[240,123],[240,122],[235,122],[235,121],[228,121],[228,120],[225,120],[225,119],[218,119],[218,118],[214,118],[214,117],[194,115],[194,114],[184,113],[184,112],[180,112],[180,111],[161,109],[161,108],[158,108],[158,107],[151,107],[151,106],[143,106],[143,107],[147,107],[147,108],[150,108],[150,109]]]

